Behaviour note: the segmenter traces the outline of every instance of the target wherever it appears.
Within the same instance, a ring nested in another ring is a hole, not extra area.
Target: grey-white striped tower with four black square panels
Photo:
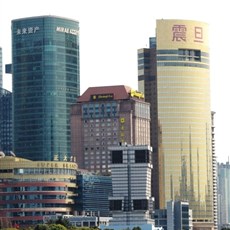
[[[112,220],[107,228],[153,229],[154,198],[151,197],[151,157],[148,145],[110,147]]]

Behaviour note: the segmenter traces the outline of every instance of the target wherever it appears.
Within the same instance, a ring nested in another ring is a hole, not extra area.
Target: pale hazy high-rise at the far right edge
[[[230,223],[230,164],[218,163],[218,228]]]

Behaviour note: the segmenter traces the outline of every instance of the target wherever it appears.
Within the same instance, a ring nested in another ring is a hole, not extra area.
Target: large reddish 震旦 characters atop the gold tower
[[[195,26],[194,42],[203,43],[203,28]],[[187,39],[187,27],[186,25],[173,25],[172,26],[172,41],[173,42],[186,42]]]

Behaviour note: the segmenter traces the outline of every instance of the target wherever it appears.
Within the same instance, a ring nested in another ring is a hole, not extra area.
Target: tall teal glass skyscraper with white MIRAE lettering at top
[[[79,23],[56,16],[12,21],[14,152],[68,160],[70,106],[80,94]]]

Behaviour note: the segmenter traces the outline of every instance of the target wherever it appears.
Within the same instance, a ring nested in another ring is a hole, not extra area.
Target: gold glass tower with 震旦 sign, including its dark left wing
[[[193,227],[214,225],[208,25],[157,20],[138,50],[138,86],[151,104],[156,208],[186,200]]]

